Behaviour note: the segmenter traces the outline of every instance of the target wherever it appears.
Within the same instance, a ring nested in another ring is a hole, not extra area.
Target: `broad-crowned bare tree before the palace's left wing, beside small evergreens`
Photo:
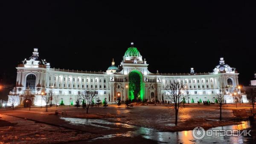
[[[85,107],[86,107],[86,113],[88,113],[88,110],[90,108],[90,104],[93,101],[93,98],[97,96],[96,91],[83,91],[79,95],[81,100],[84,100],[86,102]]]

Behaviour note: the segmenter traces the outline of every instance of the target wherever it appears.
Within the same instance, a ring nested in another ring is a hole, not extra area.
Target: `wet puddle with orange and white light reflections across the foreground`
[[[125,127],[125,128],[134,128],[133,131],[127,131],[127,132],[118,132],[116,131],[116,134],[112,135],[104,135],[103,137],[92,139],[114,139],[116,137],[136,137],[141,136],[146,139],[151,139],[154,141],[157,141],[158,144],[175,144],[175,143],[184,143],[184,144],[195,144],[195,143],[202,143],[202,144],[212,144],[212,143],[245,143],[250,144],[253,143],[253,140],[255,140],[255,135],[244,137],[244,136],[224,136],[224,137],[215,137],[215,136],[205,136],[201,140],[196,140],[192,136],[192,130],[188,131],[180,131],[180,132],[159,132],[158,130],[154,128],[147,128],[147,127],[137,127],[129,124],[123,124],[123,123],[115,123],[105,120],[99,120],[99,119],[83,119],[83,118],[62,118],[65,121],[69,121],[71,124],[77,124],[77,125],[90,125],[95,127],[104,127],[108,129],[114,129],[115,126]],[[102,126],[104,125],[104,126]],[[215,127],[212,128],[212,130],[245,130],[245,129],[255,129],[255,122],[250,123],[249,121],[244,121],[243,124],[239,125],[230,125],[230,126],[224,126],[224,127]],[[172,126],[172,124],[168,124],[168,126]],[[210,129],[211,130],[211,129]],[[255,134],[255,133],[254,133]]]

